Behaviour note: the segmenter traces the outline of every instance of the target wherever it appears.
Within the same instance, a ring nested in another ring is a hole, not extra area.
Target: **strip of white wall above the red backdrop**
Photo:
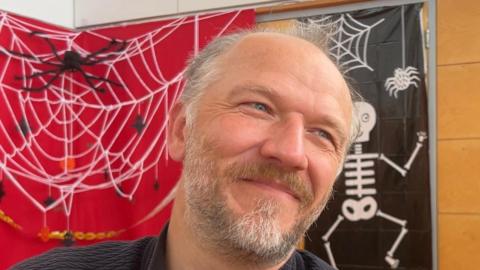
[[[291,0],[0,0],[0,10],[79,28]]]

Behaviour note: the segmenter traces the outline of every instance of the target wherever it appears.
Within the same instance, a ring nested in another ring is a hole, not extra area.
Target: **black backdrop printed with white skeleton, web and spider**
[[[300,19],[336,25],[332,56],[374,109],[361,105],[362,121],[373,125],[369,138],[354,144],[333,200],[305,239],[338,269],[432,267],[421,8]]]

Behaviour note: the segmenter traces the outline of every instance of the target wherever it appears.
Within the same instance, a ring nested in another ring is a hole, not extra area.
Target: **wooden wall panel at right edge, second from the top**
[[[480,63],[439,67],[438,138],[480,139],[479,117]]]

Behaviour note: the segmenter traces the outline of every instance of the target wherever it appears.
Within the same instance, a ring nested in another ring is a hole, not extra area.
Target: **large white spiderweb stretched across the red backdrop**
[[[226,31],[239,13],[231,14],[217,35]],[[225,14],[175,19],[126,40],[122,51],[99,54],[106,60],[95,65],[96,76],[101,74],[122,87],[94,81],[96,87],[105,89],[99,93],[78,72],[63,72],[47,89],[33,93],[20,88],[45,85],[52,77],[14,80],[8,77],[11,70],[25,76],[35,74],[40,71],[38,59],[53,61],[55,55],[46,42],[46,49],[39,52],[29,47],[26,39],[37,38],[38,43],[48,39],[58,46],[58,55],[75,51],[82,57],[94,50],[82,42],[80,34],[94,37],[99,44],[112,39],[97,30],[52,30],[0,12],[0,34],[9,37],[0,46],[0,171],[43,213],[62,206],[69,216],[74,196],[92,190],[115,189],[120,196],[132,199],[142,177],[153,170],[157,174],[159,160],[167,158],[166,113],[183,86],[184,71],[169,74],[160,62],[175,56],[161,55],[155,48],[171,42],[169,38],[178,35],[183,25],[193,24],[194,36],[189,38],[196,53],[199,23]],[[31,29],[41,35],[33,36]],[[93,70],[85,66],[87,74]],[[44,198],[35,196],[25,183],[44,186],[58,197],[45,204]],[[122,189],[123,183],[129,184],[128,191]]]

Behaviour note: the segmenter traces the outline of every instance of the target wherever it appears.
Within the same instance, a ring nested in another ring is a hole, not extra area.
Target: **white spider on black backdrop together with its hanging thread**
[[[420,82],[420,73],[416,67],[405,66],[405,7],[402,6],[401,11],[401,25],[402,25],[402,67],[396,68],[393,72],[393,77],[387,78],[385,81],[385,89],[390,96],[398,97],[399,91],[405,91],[410,86],[418,87]]]

